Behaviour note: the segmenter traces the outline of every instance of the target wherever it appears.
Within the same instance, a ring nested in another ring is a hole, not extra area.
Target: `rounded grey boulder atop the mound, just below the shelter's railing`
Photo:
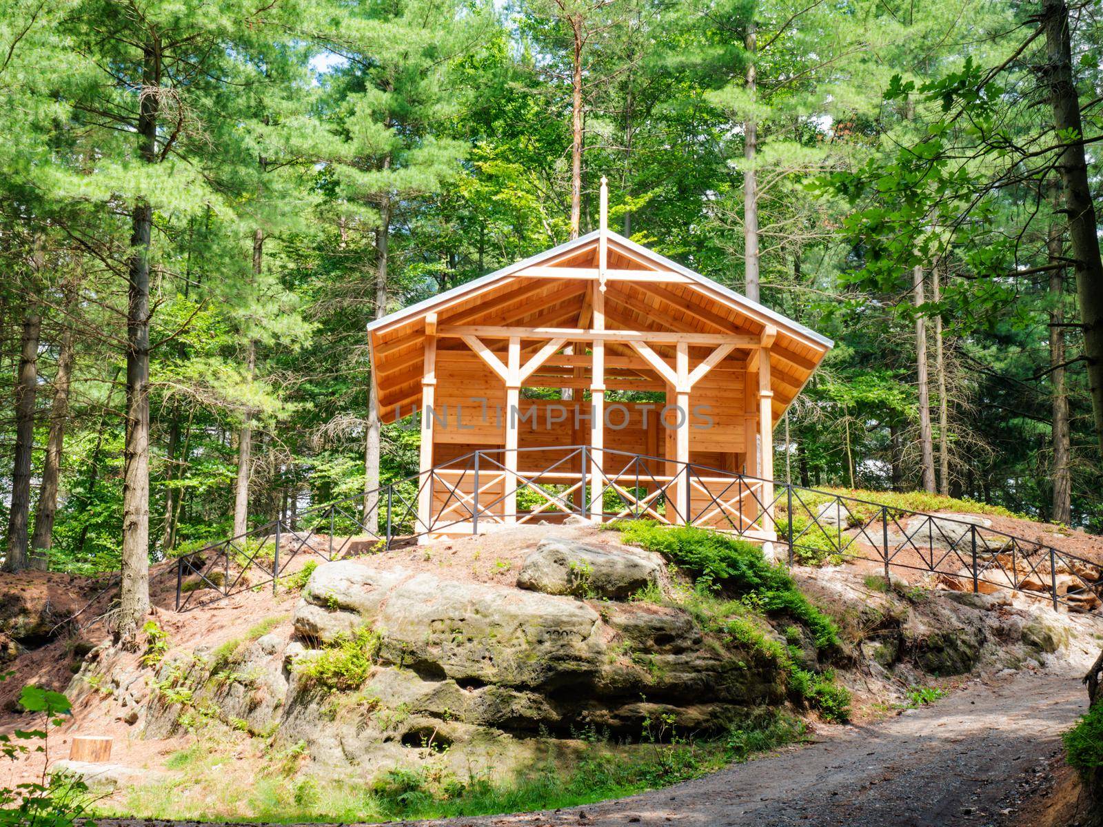
[[[639,549],[546,537],[525,558],[517,586],[545,594],[615,599],[656,582],[661,571],[657,557]]]

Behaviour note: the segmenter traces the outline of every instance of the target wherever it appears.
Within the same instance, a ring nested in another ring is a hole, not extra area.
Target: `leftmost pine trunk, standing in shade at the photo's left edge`
[[[35,270],[42,270],[42,246],[35,241]],[[23,333],[15,384],[15,457],[11,511],[8,513],[8,556],[4,571],[28,568],[28,522],[31,512],[31,461],[34,450],[34,401],[39,388],[39,334],[42,315],[32,301],[23,313]]]

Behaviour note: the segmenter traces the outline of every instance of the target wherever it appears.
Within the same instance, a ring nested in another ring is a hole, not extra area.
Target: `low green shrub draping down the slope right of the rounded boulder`
[[[706,528],[650,520],[622,522],[615,527],[625,541],[656,551],[689,573],[698,589],[753,595],[763,611],[803,623],[817,648],[838,645],[835,623],[812,605],[782,566],[767,561],[759,546]]]

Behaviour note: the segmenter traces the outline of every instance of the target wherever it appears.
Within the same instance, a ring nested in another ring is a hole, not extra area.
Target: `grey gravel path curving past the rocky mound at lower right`
[[[837,728],[824,741],[666,790],[515,816],[419,827],[950,827],[1010,823],[1047,774],[1060,733],[1086,706],[1077,677],[972,683],[933,706]],[[100,819],[100,827],[194,823]]]

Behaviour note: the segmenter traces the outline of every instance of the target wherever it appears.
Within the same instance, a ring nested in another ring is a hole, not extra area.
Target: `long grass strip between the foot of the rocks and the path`
[[[645,731],[644,742],[631,745],[595,740],[581,748],[549,747],[545,760],[514,773],[488,766],[457,775],[430,760],[370,782],[307,773],[302,744],[236,761],[229,741],[204,739],[202,747],[169,758],[170,777],[131,788],[121,804],[100,802],[97,816],[362,823],[556,809],[697,778],[804,733],[799,720],[762,709],[726,737],[705,742],[674,733],[672,743],[660,743]]]

